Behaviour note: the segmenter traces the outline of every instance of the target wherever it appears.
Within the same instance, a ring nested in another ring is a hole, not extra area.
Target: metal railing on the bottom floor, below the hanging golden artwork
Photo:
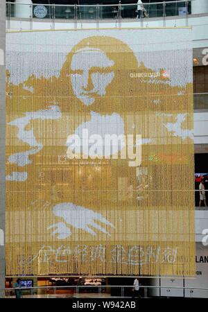
[[[6,298],[15,297],[15,290],[21,291],[22,297],[81,297],[82,293],[96,293],[97,297],[132,297],[134,286],[107,285],[107,286],[35,286],[24,288],[5,288],[0,291],[5,292]],[[157,293],[154,293],[157,291]],[[140,297],[208,297],[208,288],[180,287],[180,286],[143,286],[139,285]]]

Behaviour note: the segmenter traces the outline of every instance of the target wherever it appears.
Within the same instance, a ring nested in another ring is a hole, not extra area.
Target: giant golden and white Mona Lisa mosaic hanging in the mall
[[[194,275],[191,29],[6,44],[6,274]]]

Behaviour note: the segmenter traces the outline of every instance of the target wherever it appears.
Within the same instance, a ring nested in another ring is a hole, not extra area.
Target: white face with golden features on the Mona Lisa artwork
[[[106,87],[114,78],[113,65],[114,61],[99,49],[78,50],[71,60],[73,94],[87,106],[92,105],[97,96],[105,96]]]

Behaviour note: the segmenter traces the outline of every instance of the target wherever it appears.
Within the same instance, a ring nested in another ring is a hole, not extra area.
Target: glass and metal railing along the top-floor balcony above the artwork
[[[191,1],[194,0],[178,0],[178,1],[161,1],[155,3],[143,3],[142,12],[138,12],[137,3],[132,4],[109,4],[109,5],[60,5],[60,4],[42,4],[35,3],[13,3],[6,2],[6,18],[7,28],[10,29],[11,20],[29,21],[31,29],[33,29],[33,21],[49,21],[51,28],[55,28],[55,21],[69,21],[75,26],[79,22],[93,21],[97,26],[99,22],[111,20],[115,21],[119,26],[121,21],[130,19],[131,21],[141,21],[141,26],[148,27],[150,19],[161,19],[166,26],[166,19],[173,17],[176,19],[182,17],[188,25],[188,17],[191,15]],[[145,25],[143,25],[143,22]],[[176,21],[173,21],[175,26]]]

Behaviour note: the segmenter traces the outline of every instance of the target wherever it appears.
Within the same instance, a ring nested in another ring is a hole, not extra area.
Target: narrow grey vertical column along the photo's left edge
[[[0,289],[5,288],[5,42],[6,1],[0,1]],[[4,291],[0,291],[4,297]]]

